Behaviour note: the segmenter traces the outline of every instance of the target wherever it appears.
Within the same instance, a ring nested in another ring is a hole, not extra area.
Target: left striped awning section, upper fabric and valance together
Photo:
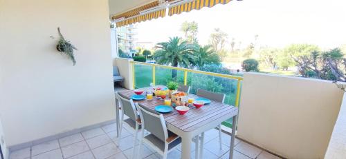
[[[131,23],[137,23],[141,21],[147,21],[151,19],[157,19],[158,17],[165,17],[166,10],[155,10],[153,12],[144,13],[145,10],[151,10],[152,8],[157,8],[159,6],[158,1],[153,1],[144,6],[140,6],[134,10],[129,10],[122,14],[114,15],[111,20],[116,21],[116,27],[121,27],[124,25],[129,25]]]

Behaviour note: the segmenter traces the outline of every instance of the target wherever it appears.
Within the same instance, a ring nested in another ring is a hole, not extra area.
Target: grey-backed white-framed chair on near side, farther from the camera
[[[117,98],[119,98],[120,105],[121,105],[121,119],[120,119],[120,129],[119,129],[119,136],[118,136],[118,145],[120,145],[121,140],[121,131],[122,131],[122,123],[127,124],[128,127],[131,127],[134,129],[134,150],[132,154],[135,154],[136,149],[136,141],[137,141],[137,134],[138,130],[141,129],[142,122],[140,120],[140,117],[138,116],[138,112],[136,109],[136,106],[134,105],[134,100],[122,97],[118,92],[116,92]],[[124,120],[124,114],[128,116],[129,118]],[[132,156],[134,158],[134,155]]]

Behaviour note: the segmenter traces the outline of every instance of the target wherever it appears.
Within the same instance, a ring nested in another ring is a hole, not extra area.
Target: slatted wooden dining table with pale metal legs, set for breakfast
[[[134,94],[133,90],[118,92],[126,98],[131,98]],[[188,94],[188,98],[197,98],[194,94]],[[154,96],[152,100],[134,100],[135,103],[140,103],[145,107],[154,109],[157,105],[163,105],[164,101],[158,99]],[[116,99],[116,125],[119,129],[119,105],[118,99]],[[181,158],[190,158],[190,151],[192,144],[192,138],[198,136],[199,134],[217,127],[223,121],[233,118],[232,127],[232,137],[230,140],[230,158],[233,158],[233,148],[235,142],[235,126],[237,121],[238,108],[226,105],[224,103],[219,103],[211,101],[208,105],[203,105],[203,107],[196,109],[195,107],[190,107],[188,113],[184,115],[179,115],[175,110],[168,114],[163,114],[167,129],[174,132],[181,137]],[[117,136],[118,136],[117,129]]]

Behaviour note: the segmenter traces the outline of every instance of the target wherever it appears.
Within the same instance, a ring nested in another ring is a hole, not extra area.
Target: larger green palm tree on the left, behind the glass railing
[[[174,67],[191,67],[194,65],[194,48],[192,44],[179,37],[170,38],[167,42],[156,44],[154,59],[158,64]],[[172,78],[176,78],[176,70],[172,70]]]

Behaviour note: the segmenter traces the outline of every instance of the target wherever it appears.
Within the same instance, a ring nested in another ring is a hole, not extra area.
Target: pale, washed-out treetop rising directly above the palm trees
[[[185,40],[188,41],[188,43],[197,42],[198,23],[195,21],[185,21],[181,24],[180,30],[184,32]]]

